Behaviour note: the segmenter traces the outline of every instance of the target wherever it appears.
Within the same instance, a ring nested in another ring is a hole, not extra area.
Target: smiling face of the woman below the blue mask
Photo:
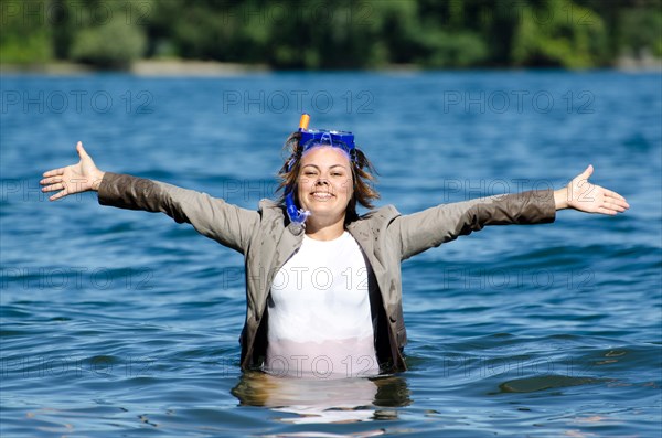
[[[302,209],[316,218],[339,220],[352,199],[350,159],[338,148],[313,148],[301,158],[298,183]]]

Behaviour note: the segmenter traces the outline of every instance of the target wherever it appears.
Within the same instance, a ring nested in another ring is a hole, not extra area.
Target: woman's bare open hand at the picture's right
[[[620,194],[590,183],[588,178],[592,172],[594,167],[589,165],[566,188],[554,192],[556,210],[575,209],[586,213],[615,215],[630,207],[630,204]]]

